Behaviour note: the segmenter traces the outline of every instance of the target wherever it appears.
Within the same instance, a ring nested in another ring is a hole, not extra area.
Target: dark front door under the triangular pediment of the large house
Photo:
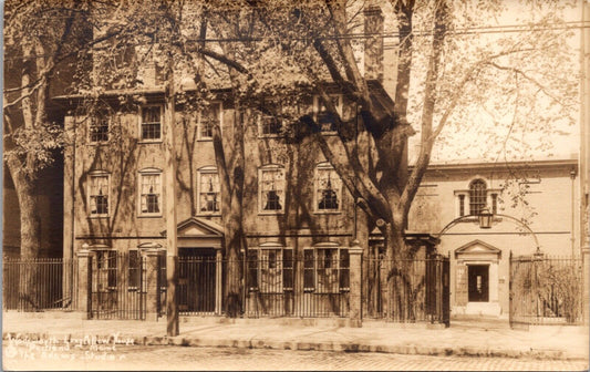
[[[185,313],[215,312],[215,249],[180,248],[178,254],[178,310]]]

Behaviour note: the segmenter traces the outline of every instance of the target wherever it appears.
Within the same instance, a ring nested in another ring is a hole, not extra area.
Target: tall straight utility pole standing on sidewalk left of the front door
[[[166,161],[165,176],[165,213],[166,213],[166,334],[178,335],[178,302],[176,301],[176,285],[178,281],[178,240],[176,239],[176,156],[174,146],[174,116],[175,116],[175,90],[174,90],[174,58],[168,51],[165,90],[165,115],[164,115],[164,156]]]

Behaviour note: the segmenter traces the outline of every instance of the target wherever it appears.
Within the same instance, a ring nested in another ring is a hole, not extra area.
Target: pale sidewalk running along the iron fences
[[[166,337],[166,320],[81,320],[64,313],[4,312],[3,340],[71,340],[95,337],[135,344],[362,351],[424,355],[470,355],[588,360],[588,327],[547,326],[513,330],[507,321],[452,321],[451,328],[334,320],[182,318],[180,334]]]

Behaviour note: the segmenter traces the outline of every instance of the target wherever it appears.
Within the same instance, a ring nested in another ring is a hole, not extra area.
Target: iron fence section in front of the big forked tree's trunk
[[[366,318],[448,324],[447,257],[405,260],[369,257],[364,264]]]

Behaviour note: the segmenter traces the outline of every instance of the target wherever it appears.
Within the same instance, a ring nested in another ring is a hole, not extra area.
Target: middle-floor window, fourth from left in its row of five
[[[279,213],[284,208],[284,168],[280,165],[267,165],[259,174],[260,210]]]

